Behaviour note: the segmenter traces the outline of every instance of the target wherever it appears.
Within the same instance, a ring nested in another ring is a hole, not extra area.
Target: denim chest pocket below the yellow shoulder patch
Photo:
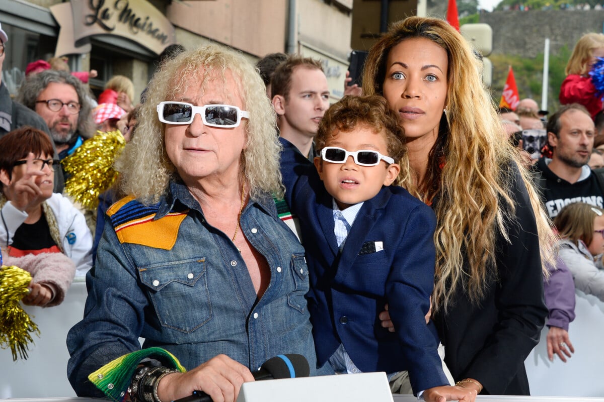
[[[138,272],[162,326],[191,333],[212,318],[205,258],[146,265]]]

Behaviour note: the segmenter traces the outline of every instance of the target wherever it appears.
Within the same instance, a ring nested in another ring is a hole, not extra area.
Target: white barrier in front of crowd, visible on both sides
[[[27,360],[12,361],[10,350],[0,350],[2,375],[0,398],[74,397],[67,380],[69,354],[67,331],[81,318],[86,301],[86,285],[74,282],[60,306],[42,309],[26,306],[39,326]],[[604,303],[577,291],[577,318],[570,324],[575,353],[563,363],[547,359],[545,336],[525,361],[532,395],[559,397],[604,397]],[[395,398],[396,400],[396,398]]]

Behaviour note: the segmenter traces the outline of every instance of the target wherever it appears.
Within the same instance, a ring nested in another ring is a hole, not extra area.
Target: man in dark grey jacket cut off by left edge
[[[2,25],[0,24],[0,72],[6,58],[7,42],[8,36],[2,30]],[[16,130],[25,125],[42,130],[50,137],[46,123],[37,113],[11,99],[8,88],[2,81],[2,75],[0,74],[0,137],[9,131]],[[54,150],[54,159],[59,160],[56,149]],[[61,169],[56,169],[54,172],[54,192],[62,192],[64,186],[63,172]]]

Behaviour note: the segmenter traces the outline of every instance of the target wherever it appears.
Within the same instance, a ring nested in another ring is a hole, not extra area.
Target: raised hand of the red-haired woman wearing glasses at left
[[[34,154],[29,153],[27,155],[27,163],[25,164],[25,174],[23,174],[18,180],[8,181],[4,183],[7,188],[5,189],[5,196],[10,200],[13,206],[20,211],[27,211],[32,207],[39,205],[45,199],[42,197],[42,190],[36,184],[36,177],[45,175],[44,172],[40,171],[33,164]],[[4,180],[3,180],[4,182]]]

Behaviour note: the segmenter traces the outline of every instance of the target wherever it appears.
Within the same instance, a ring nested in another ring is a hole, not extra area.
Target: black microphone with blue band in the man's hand
[[[266,360],[258,371],[252,372],[252,375],[256,381],[308,377],[310,367],[306,357],[301,354],[279,354]],[[193,395],[174,402],[212,402],[212,398],[203,391],[193,391]]]

